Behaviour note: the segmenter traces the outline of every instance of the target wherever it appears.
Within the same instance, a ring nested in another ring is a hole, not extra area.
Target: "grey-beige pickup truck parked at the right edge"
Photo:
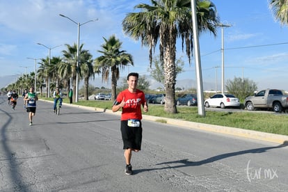
[[[283,109],[288,108],[288,95],[283,95],[282,91],[278,89],[261,90],[254,96],[246,97],[244,104],[249,111],[266,108],[282,112]]]

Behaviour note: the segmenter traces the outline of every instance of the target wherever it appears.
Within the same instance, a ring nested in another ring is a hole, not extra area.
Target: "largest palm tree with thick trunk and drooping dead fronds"
[[[182,50],[186,45],[186,55],[191,60],[193,49],[193,26],[190,0],[151,0],[152,5],[140,3],[135,8],[137,13],[129,13],[122,22],[124,32],[141,40],[142,45],[150,47],[150,67],[152,50],[159,40],[159,54],[164,69],[166,102],[164,110],[177,113],[175,102],[176,83],[176,40],[182,39]],[[210,1],[197,0],[198,31],[210,31],[216,35],[216,8]]]

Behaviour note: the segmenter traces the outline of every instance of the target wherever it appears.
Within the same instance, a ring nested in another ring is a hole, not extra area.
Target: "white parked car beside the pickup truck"
[[[206,107],[220,106],[224,109],[226,106],[240,106],[239,98],[231,94],[216,94],[206,99],[204,102]]]

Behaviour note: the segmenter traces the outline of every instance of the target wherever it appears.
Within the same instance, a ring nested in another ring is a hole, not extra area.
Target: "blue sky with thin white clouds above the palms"
[[[223,28],[225,82],[241,77],[254,81],[259,90],[288,90],[288,29],[275,21],[269,0],[212,2],[221,23],[231,25]],[[33,72],[35,61],[28,58],[46,58],[47,47],[51,48],[51,57],[61,56],[65,44],[77,42],[77,24],[74,22],[83,24],[80,43],[93,58],[100,56],[97,51],[104,43],[103,37],[114,34],[122,42],[122,50],[134,58],[134,66],[121,72],[122,77],[129,72],[149,76],[148,48],[122,32],[122,20],[127,13],[138,11],[134,9],[138,3],[150,4],[150,0],[0,0],[0,77]],[[91,19],[97,21],[88,22]],[[205,90],[221,90],[221,34],[219,27],[216,36],[209,31],[199,36]],[[158,49],[157,46],[156,55]],[[194,58],[189,63],[178,39],[177,58],[181,56],[185,63],[184,72],[177,76],[177,82],[186,80],[186,84],[176,84],[176,87],[195,88]],[[0,87],[3,86],[0,82]]]

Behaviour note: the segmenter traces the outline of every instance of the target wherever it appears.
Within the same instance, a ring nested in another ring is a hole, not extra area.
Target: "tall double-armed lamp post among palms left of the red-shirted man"
[[[77,24],[77,27],[78,27],[78,36],[77,36],[77,70],[76,70],[76,91],[75,91],[75,102],[77,103],[78,102],[78,97],[79,97],[79,74],[78,74],[78,71],[79,71],[79,46],[80,46],[80,26],[83,25],[83,24],[87,24],[88,22],[95,22],[97,21],[98,19],[91,19],[89,20],[88,22],[84,22],[83,24],[80,24],[80,23],[77,23],[75,22],[73,19],[71,19],[70,17],[67,17],[65,15],[62,15],[62,14],[59,14],[61,17],[65,17],[67,19],[69,19],[71,22],[73,22],[74,24]]]

